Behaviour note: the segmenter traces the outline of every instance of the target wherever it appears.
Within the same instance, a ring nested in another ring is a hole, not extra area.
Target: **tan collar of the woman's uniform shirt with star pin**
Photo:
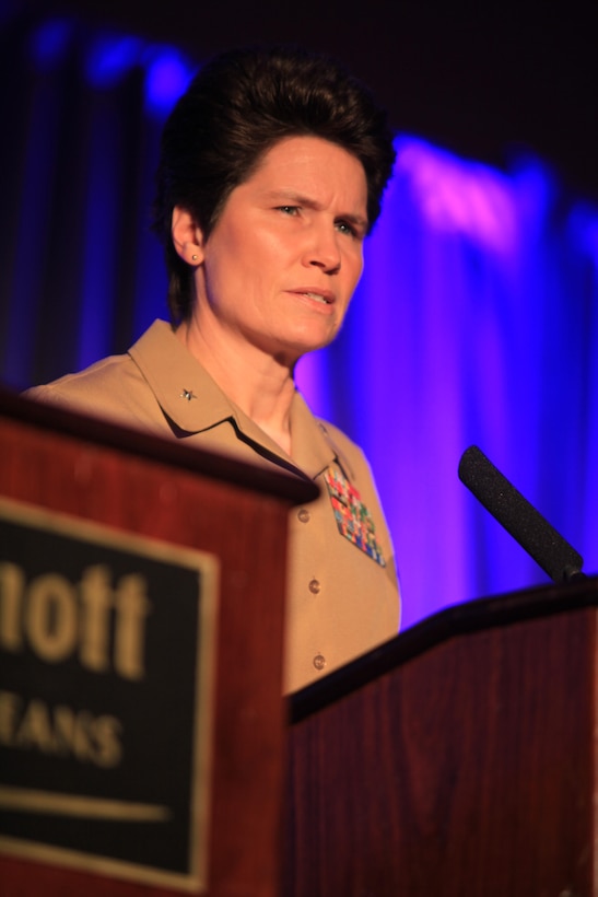
[[[312,479],[335,461],[339,462],[338,446],[298,392],[291,405],[293,458],[290,458],[227,398],[166,322],[154,321],[129,354],[177,430],[200,433],[231,421],[241,438],[254,443],[260,455],[278,459],[288,469],[298,468]]]

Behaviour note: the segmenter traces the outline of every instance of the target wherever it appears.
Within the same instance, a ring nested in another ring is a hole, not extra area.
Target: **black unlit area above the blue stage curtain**
[[[598,0],[470,10],[425,0],[4,2],[75,13],[198,61],[248,44],[325,50],[374,89],[398,130],[499,166],[529,149],[598,199]]]

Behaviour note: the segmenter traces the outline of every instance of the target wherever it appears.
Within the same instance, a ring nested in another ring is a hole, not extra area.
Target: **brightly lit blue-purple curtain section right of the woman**
[[[538,160],[397,149],[347,324],[300,378],[371,458],[409,625],[547,581],[458,480],[470,444],[598,569],[598,211]]]

